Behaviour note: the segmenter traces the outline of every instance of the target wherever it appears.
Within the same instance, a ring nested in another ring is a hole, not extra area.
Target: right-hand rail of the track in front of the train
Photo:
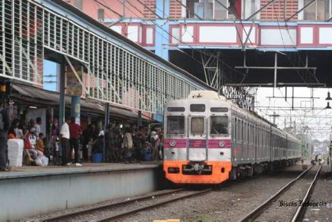
[[[190,193],[188,195],[173,198],[171,200],[164,200],[164,201],[161,201],[159,203],[154,203],[153,205],[139,207],[139,208],[132,209],[132,210],[129,210],[127,212],[123,212],[123,213],[116,214],[116,215],[113,215],[113,216],[104,217],[103,219],[97,220],[96,222],[103,222],[103,221],[111,221],[111,220],[114,220],[114,219],[120,219],[122,217],[129,216],[130,214],[141,212],[145,209],[153,209],[153,208],[159,207],[161,205],[166,205],[167,203],[172,203],[172,202],[175,202],[177,200],[182,200],[184,198],[190,198],[192,196],[198,196],[200,194],[207,193],[207,192],[210,192],[210,191],[212,191],[212,188],[211,189],[205,189],[203,191],[198,191],[198,192],[195,192],[195,193]]]

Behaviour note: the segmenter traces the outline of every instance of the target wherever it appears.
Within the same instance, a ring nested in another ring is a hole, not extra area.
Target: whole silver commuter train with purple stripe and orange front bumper
[[[301,141],[214,91],[168,102],[164,117],[164,171],[176,184],[219,184],[301,159]]]

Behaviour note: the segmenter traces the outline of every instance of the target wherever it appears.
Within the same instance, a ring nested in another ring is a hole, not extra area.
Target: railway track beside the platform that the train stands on
[[[198,196],[204,193],[208,193],[212,191],[212,189],[204,189],[200,191],[193,191],[186,193],[184,195],[176,196],[175,198],[166,198],[166,200],[163,200],[164,197],[170,196],[175,193],[181,193],[181,191],[187,191],[185,188],[181,189],[175,189],[171,191],[164,191],[161,193],[148,195],[148,196],[142,196],[139,198],[133,198],[130,200],[121,201],[118,203],[111,203],[109,205],[102,205],[98,207],[90,207],[88,209],[83,209],[75,212],[70,212],[67,214],[61,214],[58,216],[53,216],[48,219],[45,219],[44,221],[84,221],[84,216],[88,216],[89,214],[103,214],[102,211],[110,212],[109,214],[105,214],[106,216],[93,216],[93,221],[101,222],[101,221],[112,221],[115,219],[121,219],[125,216],[129,216],[131,214],[135,214],[138,212],[142,212],[146,209],[153,209],[155,207],[159,207],[161,205],[166,205],[168,203],[175,202],[177,200],[182,200],[185,198],[191,198],[193,196]],[[155,201],[157,199],[161,199],[160,201]],[[153,201],[154,203],[146,204],[142,206],[143,201]],[[130,207],[127,207],[130,205]],[[134,206],[132,206],[134,205]],[[129,208],[128,210],[124,210],[126,208]],[[113,212],[113,213],[112,213]],[[86,221],[90,221],[89,219]]]

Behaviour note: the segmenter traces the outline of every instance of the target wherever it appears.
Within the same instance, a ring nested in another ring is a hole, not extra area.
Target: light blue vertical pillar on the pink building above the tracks
[[[168,61],[168,45],[169,45],[169,0],[156,1],[156,13],[162,19],[157,17],[155,31],[155,54],[161,56]]]

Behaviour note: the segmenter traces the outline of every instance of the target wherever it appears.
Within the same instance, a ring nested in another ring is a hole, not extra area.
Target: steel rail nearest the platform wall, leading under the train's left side
[[[125,204],[128,204],[128,203],[134,203],[134,202],[139,201],[139,200],[146,200],[146,199],[156,197],[156,196],[164,196],[164,195],[167,195],[167,194],[170,194],[170,193],[176,193],[178,191],[183,191],[183,190],[185,190],[185,188],[173,189],[173,190],[170,190],[170,191],[167,190],[167,191],[164,191],[164,192],[161,192],[161,193],[149,194],[148,196],[142,196],[142,197],[139,197],[139,198],[133,198],[133,199],[130,199],[130,200],[120,201],[118,203],[111,203],[111,204],[108,204],[108,205],[101,205],[101,206],[98,206],[98,207],[89,207],[87,209],[82,209],[82,210],[78,210],[78,211],[74,211],[74,212],[70,212],[70,213],[66,213],[66,214],[61,214],[61,215],[58,215],[58,216],[52,216],[52,217],[49,217],[48,219],[45,219],[43,221],[58,221],[60,219],[67,219],[67,218],[70,218],[70,217],[79,216],[80,214],[87,214],[89,212],[94,212],[94,211],[100,210],[100,209],[118,207],[120,205],[125,205]]]

